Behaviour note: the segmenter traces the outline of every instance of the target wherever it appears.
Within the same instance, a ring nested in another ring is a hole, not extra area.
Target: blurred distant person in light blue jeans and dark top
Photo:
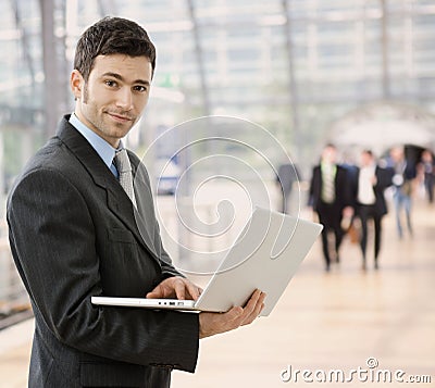
[[[403,228],[401,226],[401,209],[405,209],[408,231],[410,236],[413,234],[411,223],[411,205],[412,205],[412,191],[417,170],[414,163],[407,160],[405,157],[403,147],[394,147],[389,155],[393,162],[394,176],[393,184],[395,187],[394,202],[396,211],[396,225],[399,238],[403,237]]]

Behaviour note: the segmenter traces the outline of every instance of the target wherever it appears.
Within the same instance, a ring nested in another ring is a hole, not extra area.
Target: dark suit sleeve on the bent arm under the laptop
[[[83,352],[192,372],[197,314],[90,303],[102,292],[91,212],[53,170],[30,171],[11,192],[11,248],[34,309],[61,342]]]

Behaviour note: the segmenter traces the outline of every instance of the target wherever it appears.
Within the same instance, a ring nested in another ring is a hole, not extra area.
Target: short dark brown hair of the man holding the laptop
[[[107,16],[86,29],[77,42],[74,68],[87,82],[95,59],[110,54],[147,57],[151,62],[152,74],[154,73],[154,45],[147,32],[135,22]]]

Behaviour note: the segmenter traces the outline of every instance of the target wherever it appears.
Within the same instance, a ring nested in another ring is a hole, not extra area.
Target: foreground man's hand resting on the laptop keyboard
[[[194,285],[190,280],[174,276],[164,279],[151,292],[147,293],[147,298],[174,298],[174,299],[194,299],[197,300],[202,289]]]

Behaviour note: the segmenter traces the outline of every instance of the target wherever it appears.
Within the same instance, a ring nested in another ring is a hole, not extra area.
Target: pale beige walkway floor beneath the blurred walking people
[[[435,206],[419,203],[413,216],[414,237],[402,240],[385,218],[377,272],[371,261],[362,272],[358,246],[346,240],[326,274],[314,246],[273,314],[202,340],[197,373],[175,372],[173,387],[435,387]],[[32,327],[0,333],[1,388],[26,387]],[[341,380],[341,371],[347,383],[321,383]],[[389,374],[393,383],[376,383]],[[432,383],[400,384],[395,374]]]

